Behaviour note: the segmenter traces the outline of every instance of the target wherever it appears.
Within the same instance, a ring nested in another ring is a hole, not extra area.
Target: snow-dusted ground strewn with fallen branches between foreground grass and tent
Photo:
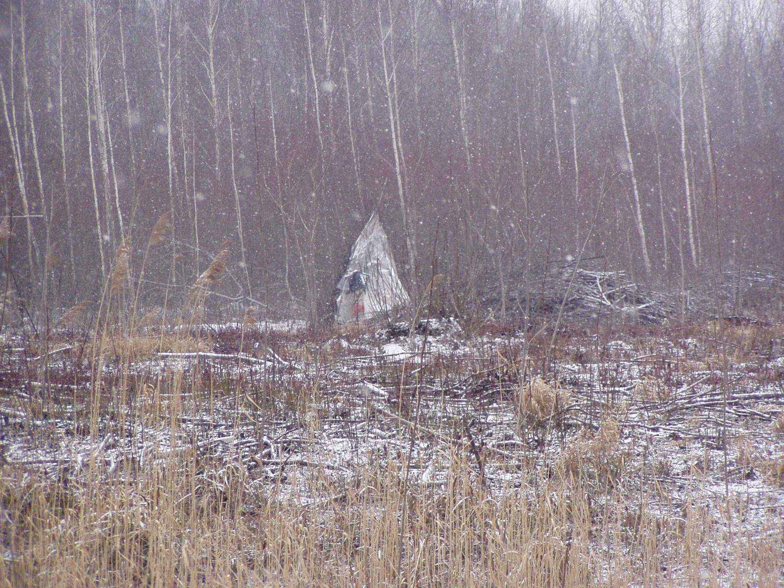
[[[752,543],[782,528],[782,328],[582,335],[554,349],[448,324],[321,340],[240,328],[212,325],[212,351],[97,361],[74,345],[45,367],[9,343],[5,463],[53,481],[64,469],[111,479],[196,452],[212,484],[241,471],[252,511],[270,488],[320,503],[331,497],[314,475],[340,487],[387,461],[407,484],[446,492],[458,453],[496,499],[579,470],[604,488],[598,511],[622,491],[630,513],[675,521],[699,507],[714,531]],[[522,400],[535,376],[559,398],[545,418]]]

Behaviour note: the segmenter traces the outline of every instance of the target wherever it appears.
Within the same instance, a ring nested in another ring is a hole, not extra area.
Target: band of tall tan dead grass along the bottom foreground
[[[588,459],[612,452],[612,430],[605,423]],[[466,452],[448,463],[441,487],[405,483],[390,459],[343,482],[303,474],[318,493],[300,496],[274,481],[252,491],[236,468],[205,475],[193,449],[110,478],[99,465],[56,483],[5,468],[0,583],[703,586],[734,567],[739,581],[777,585],[780,538],[752,550],[697,503],[657,505],[654,495],[654,507],[632,507],[619,488],[598,492],[583,468],[568,483],[491,495]]]

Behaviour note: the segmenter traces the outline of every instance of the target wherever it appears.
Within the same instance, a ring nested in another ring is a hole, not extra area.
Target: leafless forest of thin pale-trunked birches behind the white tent
[[[579,7],[3,2],[9,288],[96,300],[165,213],[143,297],[228,241],[234,296],[310,318],[376,209],[419,293],[434,264],[475,294],[568,256],[686,288],[776,263],[781,3]]]

